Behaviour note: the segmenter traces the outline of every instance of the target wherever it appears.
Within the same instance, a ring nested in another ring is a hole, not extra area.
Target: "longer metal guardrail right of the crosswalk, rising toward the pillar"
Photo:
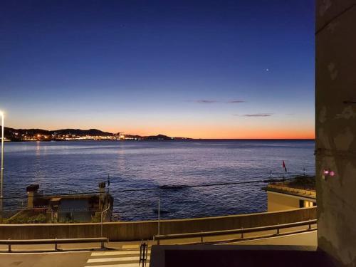
[[[253,228],[241,228],[241,229],[232,229],[232,230],[221,230],[221,231],[201,231],[201,232],[196,232],[196,233],[184,233],[184,234],[165,234],[165,235],[157,235],[154,236],[154,240],[157,241],[157,245],[159,245],[159,241],[161,240],[168,240],[168,239],[189,239],[189,238],[198,238],[200,237],[200,243],[204,243],[204,237],[207,236],[223,236],[223,235],[229,235],[229,234],[241,234],[241,239],[244,239],[244,234],[248,233],[253,233],[253,232],[261,232],[261,231],[271,231],[271,230],[276,230],[275,235],[280,234],[281,229],[288,229],[292,227],[298,227],[298,226],[308,226],[308,229],[305,229],[305,231],[310,231],[312,230],[312,225],[316,224],[317,220],[308,220],[308,221],[298,221],[294,223],[289,223],[289,224],[277,224],[277,225],[272,225],[272,226],[258,226],[258,227],[253,227]]]

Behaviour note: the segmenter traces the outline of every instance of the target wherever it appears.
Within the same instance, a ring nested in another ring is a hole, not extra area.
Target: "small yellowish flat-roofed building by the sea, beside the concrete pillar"
[[[267,192],[267,211],[281,211],[316,206],[315,177],[295,177],[272,182],[263,187]]]

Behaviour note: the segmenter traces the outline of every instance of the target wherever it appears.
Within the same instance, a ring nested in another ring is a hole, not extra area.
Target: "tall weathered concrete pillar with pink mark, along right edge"
[[[356,266],[356,0],[317,0],[315,30],[318,246]]]

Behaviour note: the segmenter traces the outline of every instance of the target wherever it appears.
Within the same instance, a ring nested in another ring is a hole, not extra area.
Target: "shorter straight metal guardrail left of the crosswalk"
[[[0,245],[9,246],[8,252],[11,251],[12,245],[46,245],[54,244],[54,250],[58,251],[58,244],[78,244],[78,243],[100,243],[100,248],[105,248],[104,243],[108,243],[109,239],[107,237],[94,237],[88,239],[7,239],[0,240]]]

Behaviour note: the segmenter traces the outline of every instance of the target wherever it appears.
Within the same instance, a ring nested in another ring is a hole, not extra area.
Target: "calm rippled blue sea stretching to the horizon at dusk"
[[[26,186],[44,194],[97,192],[107,181],[120,219],[218,216],[266,211],[265,184],[236,184],[153,191],[172,185],[244,182],[283,175],[315,174],[315,142],[300,140],[167,142],[21,142],[5,144],[4,205],[26,199]]]

